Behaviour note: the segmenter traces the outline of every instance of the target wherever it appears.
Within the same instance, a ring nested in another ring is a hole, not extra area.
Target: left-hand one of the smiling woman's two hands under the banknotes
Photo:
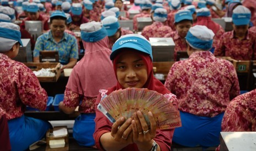
[[[111,136],[115,141],[128,145],[133,143],[132,119],[124,120],[124,117],[121,117],[112,125]]]

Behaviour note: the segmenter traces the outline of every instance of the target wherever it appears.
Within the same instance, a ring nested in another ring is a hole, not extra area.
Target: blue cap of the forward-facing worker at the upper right
[[[251,13],[250,10],[243,5],[238,5],[232,14],[233,24],[236,26],[248,25],[250,22]]]

